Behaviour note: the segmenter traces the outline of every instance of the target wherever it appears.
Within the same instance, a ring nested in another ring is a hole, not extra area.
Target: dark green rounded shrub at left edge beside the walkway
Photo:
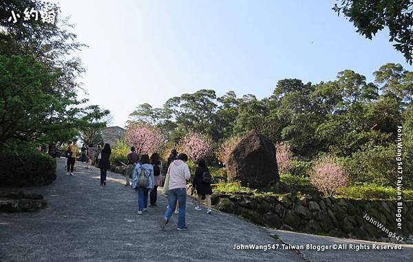
[[[56,160],[34,149],[0,153],[0,166],[1,186],[45,186],[56,179]]]

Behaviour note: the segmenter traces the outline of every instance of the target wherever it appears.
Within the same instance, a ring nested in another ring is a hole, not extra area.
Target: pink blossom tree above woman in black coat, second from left
[[[180,153],[188,155],[190,160],[197,161],[212,150],[212,139],[208,135],[191,132],[185,135],[178,146]]]

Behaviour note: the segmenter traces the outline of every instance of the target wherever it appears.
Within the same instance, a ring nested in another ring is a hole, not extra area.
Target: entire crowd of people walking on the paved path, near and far
[[[105,144],[103,149],[100,146],[83,144],[81,153],[76,144],[76,140],[63,146],[65,157],[67,157],[67,176],[74,176],[76,171],[76,160],[87,162],[85,168],[92,169],[97,163],[100,169],[100,186],[106,186],[107,170],[110,170],[110,155],[112,153],[110,145]],[[62,145],[58,142],[52,149],[49,148],[50,155],[56,157],[61,151]],[[142,215],[149,206],[157,205],[158,186],[162,186],[162,193],[167,195],[168,206],[165,217],[160,223],[160,228],[165,229],[173,213],[178,215],[177,230],[187,230],[185,223],[185,213],[187,204],[187,181],[191,179],[189,166],[187,165],[188,156],[184,153],[178,154],[176,149],[171,151],[167,159],[164,175],[162,161],[158,153],[138,155],[134,146],[127,154],[127,168],[125,172],[125,187],[131,186],[138,192],[138,215]],[[202,211],[202,199],[207,199],[207,214],[211,214],[211,182],[212,175],[209,172],[207,162],[204,159],[198,160],[198,167],[192,178],[192,186],[198,194],[198,206],[195,210]]]

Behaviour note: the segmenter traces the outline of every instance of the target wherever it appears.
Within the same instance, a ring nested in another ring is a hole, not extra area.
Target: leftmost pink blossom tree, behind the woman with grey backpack
[[[125,141],[135,146],[136,153],[151,154],[160,149],[163,136],[155,127],[133,122],[129,124],[125,131]]]

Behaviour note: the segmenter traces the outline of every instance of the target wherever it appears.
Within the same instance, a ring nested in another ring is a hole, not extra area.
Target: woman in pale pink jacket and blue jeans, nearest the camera
[[[187,205],[187,180],[191,178],[189,167],[185,163],[188,161],[188,156],[180,154],[178,160],[173,161],[169,165],[169,207],[165,212],[165,219],[162,220],[160,228],[165,229],[172,212],[176,208],[176,201],[179,202],[178,228],[176,230],[187,230],[185,223],[185,206]]]

